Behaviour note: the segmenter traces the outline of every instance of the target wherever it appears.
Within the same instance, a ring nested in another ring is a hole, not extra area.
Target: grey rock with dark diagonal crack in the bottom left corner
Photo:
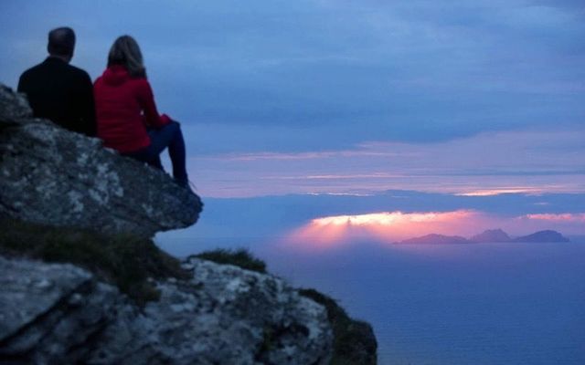
[[[0,362],[75,363],[123,302],[79,267],[0,256]]]

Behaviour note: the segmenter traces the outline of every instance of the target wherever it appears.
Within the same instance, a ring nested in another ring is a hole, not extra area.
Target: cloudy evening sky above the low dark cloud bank
[[[46,57],[53,27],[75,29],[72,63],[91,78],[134,36],[159,110],[182,123],[197,193],[232,213],[290,194],[581,199],[585,3],[446,4],[5,0],[0,82]],[[510,199],[497,201],[508,213]],[[584,211],[543,206],[518,214]]]

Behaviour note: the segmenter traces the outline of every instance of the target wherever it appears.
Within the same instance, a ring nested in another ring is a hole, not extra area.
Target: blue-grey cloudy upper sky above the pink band
[[[173,1],[1,5],[0,79],[14,85],[73,26],[99,76],[115,36],[144,49],[162,110],[188,124],[282,130],[197,153],[444,141],[486,130],[582,128],[579,2]],[[205,129],[204,129],[205,130]],[[333,131],[332,131],[333,130]],[[206,130],[207,131],[207,130]],[[276,140],[276,141],[274,141]],[[195,142],[200,141],[196,140]]]

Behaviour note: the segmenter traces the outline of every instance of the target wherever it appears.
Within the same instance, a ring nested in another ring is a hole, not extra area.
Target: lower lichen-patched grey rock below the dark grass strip
[[[0,257],[0,360],[90,364],[327,364],[325,309],[274,276],[191,259],[135,308],[70,265]],[[4,362],[3,362],[4,363]]]

